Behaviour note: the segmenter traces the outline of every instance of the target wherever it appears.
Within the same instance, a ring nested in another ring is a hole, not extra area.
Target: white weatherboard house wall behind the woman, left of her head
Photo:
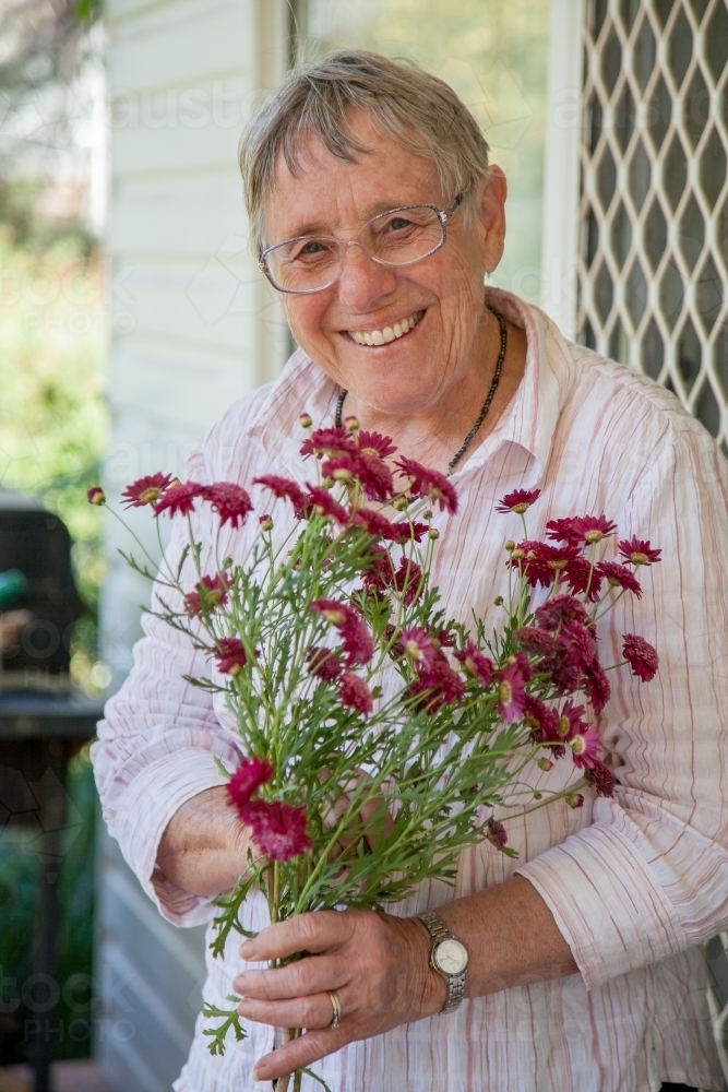
[[[237,145],[285,71],[285,0],[108,0],[107,238],[114,431],[105,485],[182,473],[231,402],[279,370],[286,335],[248,251]],[[131,513],[156,553],[148,513]],[[118,686],[148,585],[108,526],[104,656]],[[96,1051],[119,1092],[168,1092],[200,1005],[202,930],[168,925],[108,836],[99,851]]]

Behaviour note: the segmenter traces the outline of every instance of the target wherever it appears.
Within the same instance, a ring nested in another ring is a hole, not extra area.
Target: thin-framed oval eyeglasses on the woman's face
[[[302,235],[267,247],[258,268],[278,292],[322,292],[338,280],[347,247],[361,247],[379,265],[414,265],[444,246],[447,221],[462,204],[465,190],[450,209],[402,205],[368,221],[356,238]]]

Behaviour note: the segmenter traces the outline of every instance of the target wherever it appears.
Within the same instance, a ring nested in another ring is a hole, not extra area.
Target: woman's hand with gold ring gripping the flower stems
[[[261,1058],[255,1080],[272,1080],[310,1066],[355,1040],[440,1012],[444,980],[430,968],[430,938],[416,918],[371,911],[300,914],[263,929],[240,948],[244,960],[306,959],[270,971],[246,971],[234,988],[240,1016],[274,1028],[306,1028],[306,1035]],[[342,1006],[331,1028],[336,990]]]

